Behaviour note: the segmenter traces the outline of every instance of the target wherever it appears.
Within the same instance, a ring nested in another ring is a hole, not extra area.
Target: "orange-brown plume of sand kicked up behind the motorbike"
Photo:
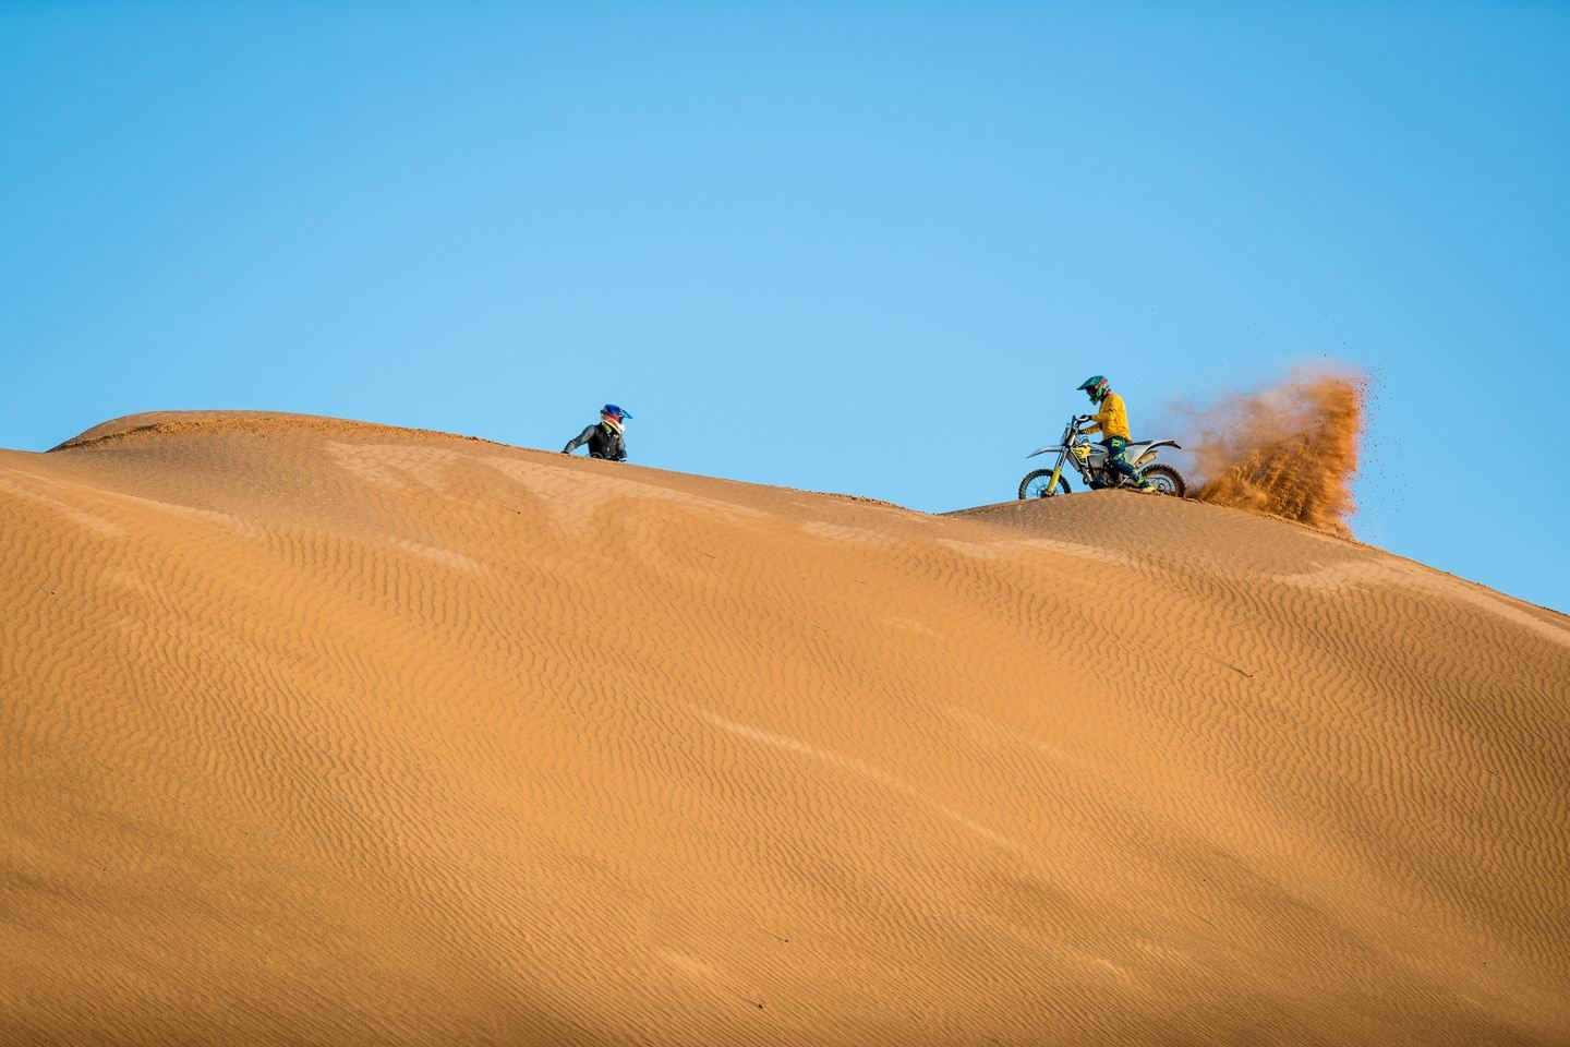
[[[1188,411],[1203,479],[1193,496],[1350,537],[1364,392],[1356,372],[1298,370],[1262,392]]]

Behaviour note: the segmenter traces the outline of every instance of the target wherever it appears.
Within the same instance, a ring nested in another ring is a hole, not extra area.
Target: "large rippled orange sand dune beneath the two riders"
[[[0,1042],[1570,1044],[1561,615],[1119,493],[89,435],[0,452]]]

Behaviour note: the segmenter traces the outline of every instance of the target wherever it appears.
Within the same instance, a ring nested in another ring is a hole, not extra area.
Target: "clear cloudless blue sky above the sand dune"
[[[1356,535],[1570,611],[1567,355],[1565,3],[0,0],[5,447],[614,400],[944,510],[1328,356]]]

